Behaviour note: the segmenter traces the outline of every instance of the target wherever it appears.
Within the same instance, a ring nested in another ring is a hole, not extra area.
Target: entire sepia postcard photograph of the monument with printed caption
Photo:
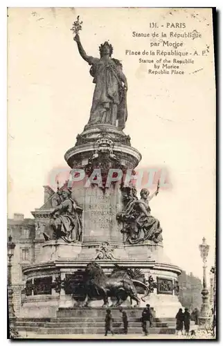
[[[7,16],[8,338],[216,340],[215,8]]]

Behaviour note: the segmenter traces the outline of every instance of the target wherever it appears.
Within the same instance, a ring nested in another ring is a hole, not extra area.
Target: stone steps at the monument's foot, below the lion
[[[129,320],[129,334],[142,334],[142,308],[125,309]],[[106,308],[59,309],[56,318],[18,318],[18,331],[37,334],[104,334]],[[123,334],[123,320],[119,309],[111,309],[114,333]],[[152,318],[150,334],[174,334],[175,318]]]

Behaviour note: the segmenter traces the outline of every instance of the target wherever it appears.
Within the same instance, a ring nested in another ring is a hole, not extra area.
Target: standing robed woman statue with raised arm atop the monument
[[[81,57],[91,65],[90,74],[96,84],[88,125],[108,124],[124,129],[127,120],[127,80],[119,60],[111,58],[113,48],[105,42],[100,45],[100,58],[87,55],[76,33]]]

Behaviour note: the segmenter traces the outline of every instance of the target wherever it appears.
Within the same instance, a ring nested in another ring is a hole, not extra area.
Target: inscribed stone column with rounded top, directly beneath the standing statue
[[[78,135],[75,147],[65,154],[68,165],[84,170],[82,181],[73,181],[73,198],[83,208],[82,250],[80,259],[95,260],[96,249],[107,242],[111,246],[112,259],[129,258],[123,246],[121,225],[116,215],[123,210],[121,183],[127,169],[134,170],[141,154],[130,145],[130,136],[112,125],[87,126]],[[102,185],[88,180],[99,170]],[[118,170],[120,179],[107,184],[111,170]],[[75,180],[75,179],[73,179]]]

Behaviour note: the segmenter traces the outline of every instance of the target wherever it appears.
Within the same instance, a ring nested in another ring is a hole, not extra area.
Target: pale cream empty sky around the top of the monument
[[[123,64],[129,86],[124,131],[142,154],[138,168],[169,172],[171,188],[161,189],[150,203],[163,228],[166,255],[202,277],[203,237],[210,245],[208,268],[215,253],[215,79],[208,9],[8,10],[8,217],[14,212],[32,217],[30,211],[42,206],[42,186],[56,187],[57,174],[69,168],[64,154],[89,120],[94,84],[70,30],[77,15],[87,53],[98,57],[98,46],[109,40]],[[197,41],[185,40],[186,47],[208,46],[208,56],[184,66],[184,76],[148,75],[147,64],[125,51],[149,50],[150,39],[132,32],[151,33],[149,23],[155,21],[185,22],[183,31],[202,33]]]

